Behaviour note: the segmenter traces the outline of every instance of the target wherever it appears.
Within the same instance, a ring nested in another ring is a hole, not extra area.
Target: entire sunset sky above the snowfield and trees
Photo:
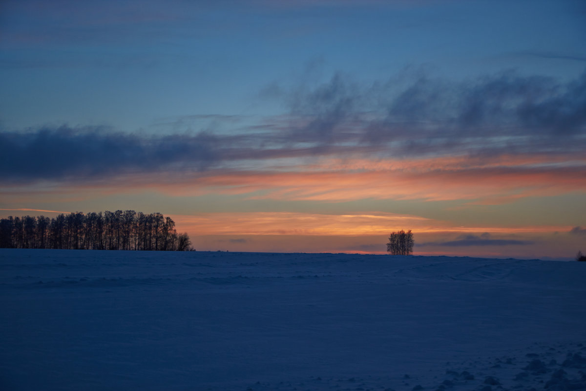
[[[196,250],[586,251],[586,3],[0,2],[0,217]]]

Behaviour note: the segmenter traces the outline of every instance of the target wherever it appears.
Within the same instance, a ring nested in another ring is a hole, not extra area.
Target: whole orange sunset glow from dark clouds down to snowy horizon
[[[417,236],[416,255],[560,257],[573,256],[580,250],[582,236],[570,234],[570,230],[580,225],[584,216],[580,204],[580,196],[586,194],[584,158],[509,156],[485,162],[465,156],[349,157],[311,161],[255,170],[127,174],[82,183],[47,180],[5,186],[1,194],[6,208],[46,207],[4,210],[69,213],[51,209],[92,205],[98,210],[163,212],[175,221],[179,232],[189,234],[198,250],[384,254],[388,234],[401,229],[411,229]],[[565,194],[568,196],[546,198]],[[523,204],[530,197],[542,199]],[[387,205],[384,200],[410,202],[391,201]],[[568,206],[564,215],[555,216],[561,208],[553,203],[560,201],[568,202]],[[346,206],[342,202],[353,203]],[[334,203],[339,204],[331,205]],[[515,205],[490,206],[506,203]],[[322,205],[326,207],[321,209]],[[535,210],[532,215],[532,205],[556,208]],[[342,213],[345,208],[361,211]],[[408,210],[412,214],[374,208]],[[567,213],[568,208],[575,209],[575,217]],[[220,212],[202,213],[205,210]],[[492,211],[494,216],[490,215]],[[570,217],[564,221],[566,215]],[[442,244],[482,233],[492,237],[487,246]],[[513,244],[497,247],[499,241],[507,243],[507,239]],[[417,247],[421,243],[425,246]]]

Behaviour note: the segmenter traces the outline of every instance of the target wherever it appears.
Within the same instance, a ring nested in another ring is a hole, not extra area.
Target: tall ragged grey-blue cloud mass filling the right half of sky
[[[289,110],[282,125],[288,142],[384,144],[393,155],[575,154],[586,147],[586,72],[568,83],[508,71],[461,82],[419,72],[370,84],[335,74],[306,84],[270,86]]]

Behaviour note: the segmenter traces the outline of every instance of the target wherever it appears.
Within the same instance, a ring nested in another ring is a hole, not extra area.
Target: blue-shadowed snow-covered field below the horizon
[[[586,390],[586,263],[0,250],[2,390]]]

